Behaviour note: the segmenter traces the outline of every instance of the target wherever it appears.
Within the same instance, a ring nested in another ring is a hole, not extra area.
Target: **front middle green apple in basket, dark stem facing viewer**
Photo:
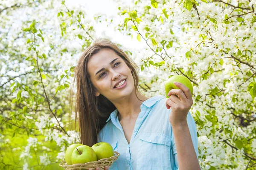
[[[91,161],[97,161],[94,150],[87,145],[76,147],[71,156],[72,164],[85,164]]]

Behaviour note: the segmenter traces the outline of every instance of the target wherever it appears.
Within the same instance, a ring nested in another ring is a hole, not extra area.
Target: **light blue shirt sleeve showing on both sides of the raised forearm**
[[[189,132],[191,135],[192,143],[195,149],[196,156],[198,158],[198,137],[197,137],[197,130],[196,130],[196,124],[193,116],[190,114],[190,112],[187,115],[187,123],[189,126]],[[179,164],[178,164],[178,157],[177,157],[177,150],[176,150],[176,144],[174,139],[174,134],[172,131],[172,150],[175,158],[175,170],[179,170]]]

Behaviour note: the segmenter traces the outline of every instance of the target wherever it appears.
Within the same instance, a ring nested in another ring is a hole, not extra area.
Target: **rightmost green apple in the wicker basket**
[[[97,160],[114,156],[114,150],[108,142],[99,142],[92,146],[97,155]]]

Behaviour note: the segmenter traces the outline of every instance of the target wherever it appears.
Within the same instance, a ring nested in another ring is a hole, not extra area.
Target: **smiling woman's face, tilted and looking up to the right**
[[[96,96],[102,94],[115,101],[128,96],[134,90],[134,79],[125,61],[109,48],[102,49],[88,61],[90,80],[96,88]],[[125,79],[123,88],[116,88],[116,83]]]

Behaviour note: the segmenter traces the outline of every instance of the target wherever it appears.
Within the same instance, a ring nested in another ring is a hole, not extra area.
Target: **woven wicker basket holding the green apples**
[[[120,153],[114,151],[114,156],[110,158],[100,159],[99,161],[87,162],[85,164],[72,164],[68,165],[66,161],[61,161],[60,166],[65,170],[89,170],[90,168],[95,170],[96,167],[104,169],[105,166],[111,166],[114,161],[120,156]]]

